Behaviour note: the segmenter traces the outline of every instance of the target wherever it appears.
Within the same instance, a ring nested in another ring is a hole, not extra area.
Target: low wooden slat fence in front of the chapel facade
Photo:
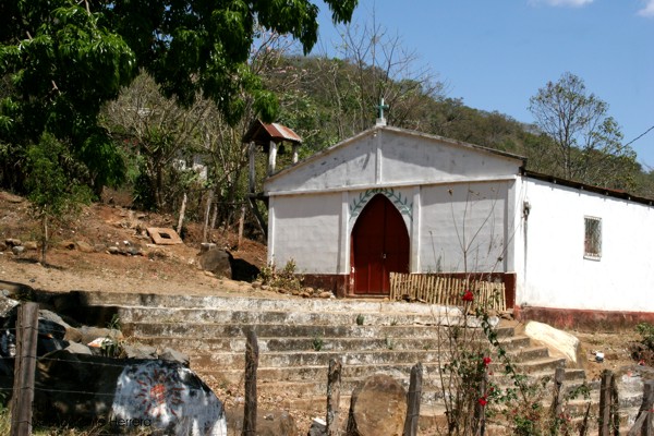
[[[390,300],[420,301],[429,304],[461,305],[465,291],[473,304],[506,311],[505,283],[475,278],[458,278],[444,274],[390,272]]]

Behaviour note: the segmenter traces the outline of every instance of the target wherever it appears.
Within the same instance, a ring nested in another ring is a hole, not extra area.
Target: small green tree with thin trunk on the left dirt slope
[[[44,134],[26,154],[27,187],[35,215],[41,221],[41,262],[46,264],[49,226],[77,210],[81,203],[90,199],[88,189],[70,177],[74,161],[66,147],[51,134]]]

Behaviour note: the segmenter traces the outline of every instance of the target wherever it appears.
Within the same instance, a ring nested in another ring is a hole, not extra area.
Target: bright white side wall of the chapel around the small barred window
[[[652,206],[522,179],[530,205],[516,242],[517,304],[654,312]],[[584,258],[584,217],[602,218],[602,257]]]

